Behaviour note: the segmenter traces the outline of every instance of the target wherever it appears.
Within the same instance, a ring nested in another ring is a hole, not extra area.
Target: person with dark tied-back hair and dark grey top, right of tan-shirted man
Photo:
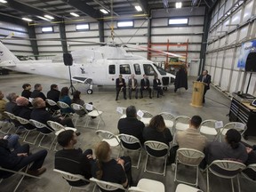
[[[231,160],[245,163],[248,154],[243,143],[241,143],[241,134],[235,129],[229,129],[226,133],[225,142],[213,141],[204,148],[205,158],[200,165],[202,168],[206,164],[212,164],[214,160]],[[225,174],[223,170],[214,168],[216,172]]]

